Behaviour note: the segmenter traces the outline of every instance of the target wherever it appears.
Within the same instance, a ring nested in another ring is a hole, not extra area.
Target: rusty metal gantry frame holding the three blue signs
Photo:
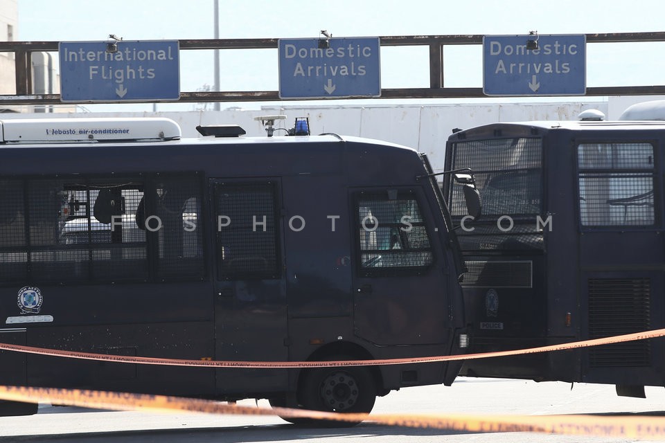
[[[429,88],[382,89],[380,98],[481,98],[483,88],[447,88],[443,78],[443,47],[479,45],[483,35],[405,35],[379,37],[381,46],[427,46]],[[587,34],[587,43],[665,42],[665,32]],[[60,94],[39,94],[32,90],[32,53],[57,52],[59,42],[0,42],[0,52],[15,54],[16,94],[0,95],[3,105],[56,105]],[[276,49],[278,39],[183,39],[181,51],[199,49]],[[665,85],[589,87],[586,96],[648,96],[665,94]],[[184,91],[172,102],[256,102],[281,100],[278,91]],[[283,99],[282,99],[283,100]],[[302,99],[300,99],[302,100]],[[317,100],[317,99],[313,99]],[[328,99],[334,100],[334,99]]]

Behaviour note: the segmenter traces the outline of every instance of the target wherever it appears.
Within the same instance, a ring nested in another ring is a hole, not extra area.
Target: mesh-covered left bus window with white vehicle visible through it
[[[54,282],[147,278],[145,233],[127,210],[142,188],[137,177],[30,181],[30,272]]]

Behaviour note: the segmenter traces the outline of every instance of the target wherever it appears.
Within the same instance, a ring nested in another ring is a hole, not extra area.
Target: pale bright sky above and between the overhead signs
[[[214,1],[18,0],[15,39],[104,41],[109,34],[125,40],[212,39],[215,35]],[[333,37],[522,35],[532,30],[540,35],[665,30],[665,2],[662,0],[218,1],[222,39],[317,38],[323,29]],[[665,43],[662,42],[587,44],[587,87],[665,84],[663,54]],[[448,46],[443,57],[445,86],[483,86],[481,46]],[[220,60],[222,91],[278,89],[276,49],[226,50],[221,51]],[[202,91],[213,84],[213,51],[181,51],[181,91]],[[427,48],[382,48],[381,87],[429,87]],[[389,104],[389,100],[373,102]],[[407,102],[414,103],[413,100]],[[338,101],[325,103],[339,105]],[[265,104],[222,103],[222,109],[232,105],[256,108]],[[154,109],[153,105],[85,106],[92,111]],[[158,106],[160,110],[185,111],[199,105],[160,103]]]

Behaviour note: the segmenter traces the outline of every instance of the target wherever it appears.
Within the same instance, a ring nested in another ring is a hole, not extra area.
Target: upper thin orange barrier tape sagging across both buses
[[[344,360],[344,361],[202,361],[182,359],[159,359],[157,357],[141,356],[118,356],[109,354],[94,354],[91,352],[73,352],[44,347],[30,347],[23,345],[10,345],[0,343],[0,350],[27,352],[29,354],[40,354],[49,356],[68,357],[70,359],[113,361],[117,363],[139,363],[143,365],[172,365],[172,366],[207,366],[213,368],[329,368],[333,366],[374,366],[374,365],[400,365],[405,363],[432,363],[438,361],[488,359],[490,357],[511,356],[520,354],[534,354],[537,352],[551,352],[576,349],[578,347],[590,347],[608,345],[611,343],[622,343],[625,341],[645,340],[665,336],[665,329],[654,329],[652,331],[637,332],[634,334],[618,335],[605,338],[594,338],[592,340],[562,343],[560,345],[549,345],[541,347],[530,347],[528,349],[483,352],[480,354],[458,354],[446,356],[415,357],[407,359],[380,359],[380,360]]]

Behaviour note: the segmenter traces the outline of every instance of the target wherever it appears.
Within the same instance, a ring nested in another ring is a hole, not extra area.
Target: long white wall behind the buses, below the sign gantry
[[[507,103],[486,105],[374,105],[296,107],[275,106],[262,109],[225,109],[222,111],[142,112],[142,113],[68,113],[57,117],[147,117],[162,116],[179,123],[184,137],[199,136],[197,125],[237,124],[247,136],[265,136],[258,116],[283,114],[276,127],[294,126],[296,117],[308,117],[312,134],[335,132],[340,135],[362,136],[414,147],[428,154],[435,170],[443,169],[445,141],[453,128],[465,129],[486,123],[528,120],[575,120],[585,109],[599,109],[608,120],[616,120],[626,107],[635,102],[661,97],[610,98],[597,102]],[[53,118],[53,114],[3,114],[1,118]],[[278,130],[276,136],[285,131]]]

